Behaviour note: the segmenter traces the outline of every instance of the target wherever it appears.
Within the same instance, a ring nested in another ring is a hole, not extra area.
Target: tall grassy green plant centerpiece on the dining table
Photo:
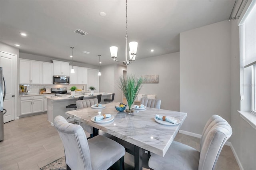
[[[118,87],[126,97],[129,108],[126,109],[126,112],[129,114],[134,112],[134,109],[132,109],[132,104],[142,88],[142,82],[142,77],[136,77],[135,75],[127,75],[127,77],[121,76],[119,79]]]

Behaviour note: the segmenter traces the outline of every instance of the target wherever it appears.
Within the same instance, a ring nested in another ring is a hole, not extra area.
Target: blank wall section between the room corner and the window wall
[[[214,114],[230,123],[230,28],[222,21],[180,33],[182,130],[201,134]]]

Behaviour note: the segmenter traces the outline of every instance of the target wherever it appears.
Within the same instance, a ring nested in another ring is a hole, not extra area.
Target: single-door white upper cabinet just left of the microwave
[[[53,63],[43,63],[42,84],[52,84]]]

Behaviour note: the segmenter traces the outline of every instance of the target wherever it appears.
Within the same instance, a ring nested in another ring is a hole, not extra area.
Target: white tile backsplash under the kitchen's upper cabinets
[[[21,84],[20,84],[21,85]],[[19,91],[20,91],[20,85],[19,85]],[[90,91],[90,89],[87,89],[87,85],[28,85],[28,84],[22,84],[24,86],[27,86],[28,89],[28,94],[39,94],[40,93],[40,89],[43,88],[48,88],[51,90],[51,88],[60,88],[60,87],[67,87],[68,88],[68,92],[70,92],[70,87],[72,86],[76,86],[77,89],[82,89],[84,86],[84,91]]]

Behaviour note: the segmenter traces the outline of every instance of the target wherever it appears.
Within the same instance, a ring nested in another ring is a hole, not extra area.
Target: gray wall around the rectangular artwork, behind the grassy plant
[[[159,75],[159,83],[145,83],[140,94],[155,94],[161,99],[161,109],[180,110],[179,53],[138,59],[127,66],[127,74]]]

